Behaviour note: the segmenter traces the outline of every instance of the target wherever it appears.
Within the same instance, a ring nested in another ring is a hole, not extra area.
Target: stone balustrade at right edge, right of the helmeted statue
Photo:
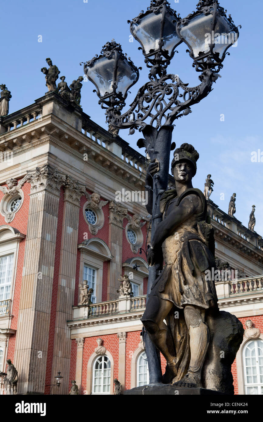
[[[218,298],[263,293],[263,275],[216,282]]]

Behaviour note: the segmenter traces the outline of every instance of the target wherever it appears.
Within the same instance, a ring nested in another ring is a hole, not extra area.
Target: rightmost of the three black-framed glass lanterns
[[[217,1],[211,1],[209,6],[207,3],[182,19],[177,25],[177,32],[190,48],[190,56],[194,60],[213,57],[221,63],[227,49],[236,43],[239,31]]]

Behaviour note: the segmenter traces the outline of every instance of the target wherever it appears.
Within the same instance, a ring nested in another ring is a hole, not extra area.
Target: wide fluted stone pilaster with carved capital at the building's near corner
[[[31,191],[14,364],[18,393],[43,394],[60,187],[66,176],[49,165],[28,174]]]

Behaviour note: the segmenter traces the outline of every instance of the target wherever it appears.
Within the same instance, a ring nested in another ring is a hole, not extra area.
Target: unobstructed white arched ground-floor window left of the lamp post
[[[110,394],[111,362],[107,356],[98,357],[93,364],[92,394]]]

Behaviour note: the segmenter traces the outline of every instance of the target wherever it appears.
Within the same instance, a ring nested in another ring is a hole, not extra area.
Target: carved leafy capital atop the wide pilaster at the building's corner
[[[28,172],[28,176],[28,181],[31,184],[31,193],[48,189],[52,193],[59,195],[60,187],[65,186],[67,180],[65,174],[59,174],[57,168],[53,168],[49,164],[41,168],[37,167],[33,173]]]

